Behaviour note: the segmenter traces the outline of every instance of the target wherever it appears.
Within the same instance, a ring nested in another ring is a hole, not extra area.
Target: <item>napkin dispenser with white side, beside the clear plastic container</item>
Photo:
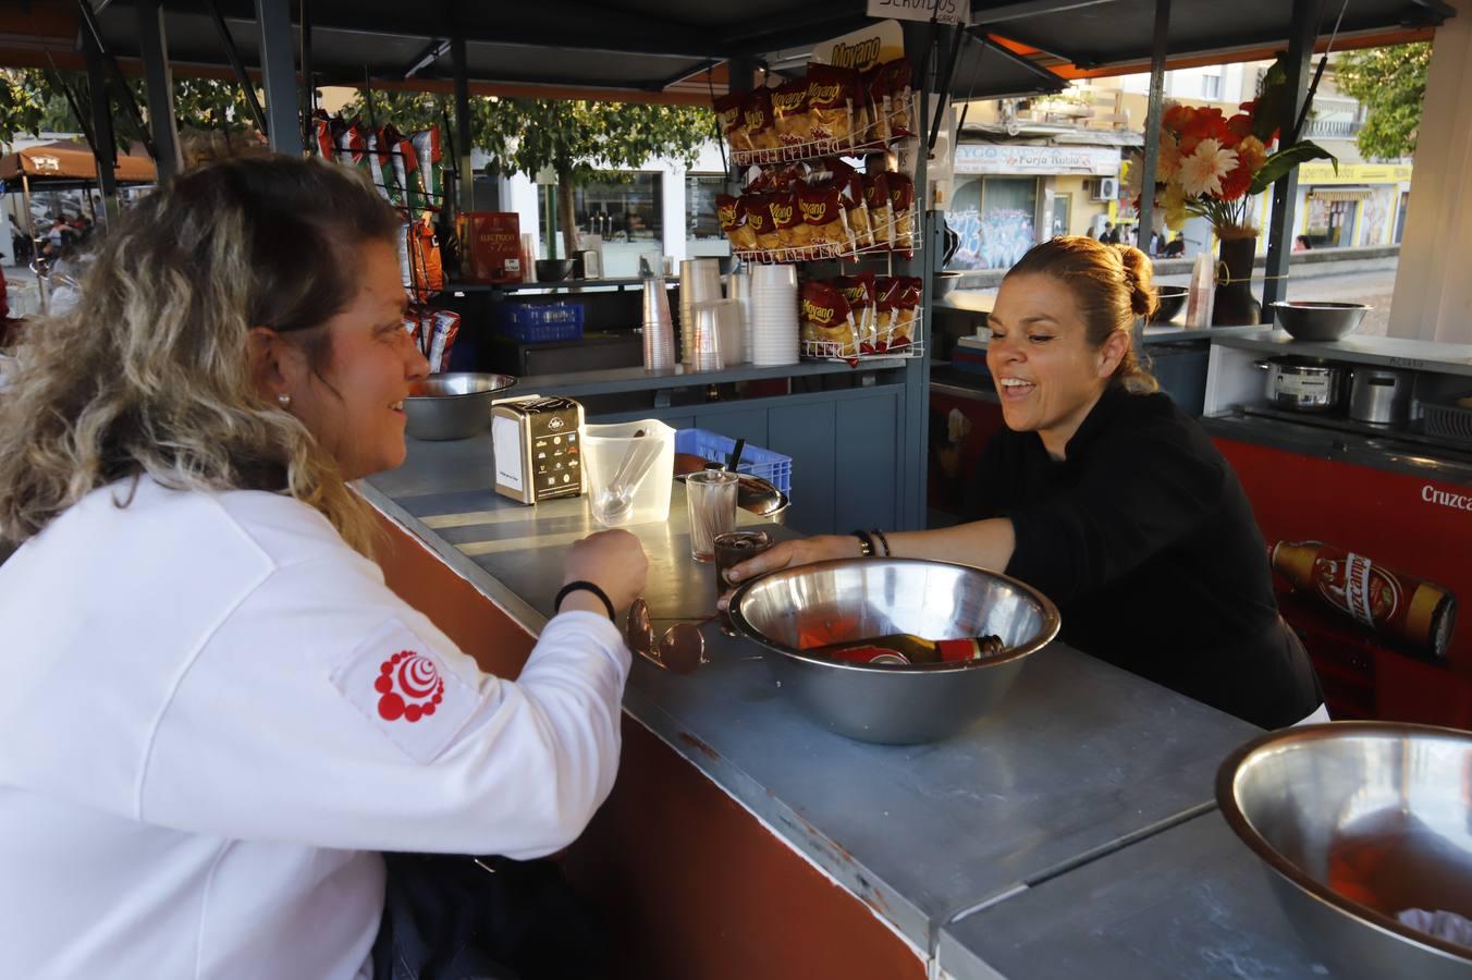
[[[517,397],[490,409],[496,493],[537,503],[583,493],[583,406],[564,397]]]

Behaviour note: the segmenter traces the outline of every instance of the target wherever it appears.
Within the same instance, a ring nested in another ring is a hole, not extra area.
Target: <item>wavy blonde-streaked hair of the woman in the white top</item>
[[[358,294],[364,243],[399,216],[343,166],[210,163],[113,222],[68,312],[32,324],[0,397],[0,536],[40,533],[97,487],[286,491],[371,555],[377,522],[331,455],[250,380],[247,334],[302,344]],[[131,497],[131,493],[128,494]]]

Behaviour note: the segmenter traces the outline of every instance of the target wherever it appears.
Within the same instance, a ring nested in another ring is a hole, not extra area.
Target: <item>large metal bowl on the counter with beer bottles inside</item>
[[[736,630],[777,653],[783,693],[833,731],[910,745],[951,736],[991,711],[1027,655],[1058,634],[1047,596],[995,572],[908,558],[798,565],[754,578],[730,602]],[[802,652],[891,633],[945,640],[997,634],[998,658],[964,664],[846,664]]]

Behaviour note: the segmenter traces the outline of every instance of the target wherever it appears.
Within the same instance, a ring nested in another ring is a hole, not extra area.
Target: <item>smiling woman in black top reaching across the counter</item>
[[[1138,249],[1086,237],[1032,249],[989,316],[1007,430],[977,466],[979,519],[879,536],[880,550],[1005,569],[1058,603],[1070,646],[1253,724],[1326,720],[1236,474],[1135,356],[1135,319],[1154,303]],[[785,542],[735,571],[861,547]]]

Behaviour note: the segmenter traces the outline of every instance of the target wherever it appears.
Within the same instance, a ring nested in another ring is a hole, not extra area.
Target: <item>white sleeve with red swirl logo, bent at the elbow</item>
[[[137,817],[322,848],[551,853],[612,789],[627,674],[604,617],[553,618],[509,681],[369,562],[281,568],[180,678]]]

